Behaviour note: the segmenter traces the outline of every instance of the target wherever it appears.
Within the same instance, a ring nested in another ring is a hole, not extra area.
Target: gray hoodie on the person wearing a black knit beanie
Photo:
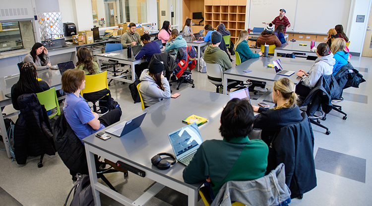
[[[141,93],[143,103],[145,107],[149,107],[157,102],[161,101],[162,98],[171,97],[171,87],[167,78],[162,78],[162,84],[164,91],[159,88],[154,78],[148,74],[148,69],[144,69],[139,77],[141,85],[139,86],[139,92]]]

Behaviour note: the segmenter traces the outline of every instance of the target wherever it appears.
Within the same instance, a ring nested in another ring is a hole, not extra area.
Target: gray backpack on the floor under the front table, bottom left
[[[73,199],[70,206],[94,206],[94,199],[92,193],[92,187],[90,186],[89,175],[76,174],[77,181],[72,187],[64,206],[67,206],[68,198],[70,197],[71,192],[73,191]]]

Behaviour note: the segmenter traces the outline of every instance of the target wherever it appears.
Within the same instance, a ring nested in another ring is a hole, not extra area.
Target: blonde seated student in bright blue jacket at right
[[[333,58],[336,60],[333,65],[333,75],[345,65],[348,64],[349,52],[346,51],[346,42],[342,38],[333,40],[331,51],[333,53]]]

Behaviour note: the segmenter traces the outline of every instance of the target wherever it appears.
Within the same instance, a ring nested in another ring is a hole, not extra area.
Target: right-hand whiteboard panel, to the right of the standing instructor
[[[351,0],[297,0],[294,29],[297,32],[327,33],[337,24],[348,24]]]

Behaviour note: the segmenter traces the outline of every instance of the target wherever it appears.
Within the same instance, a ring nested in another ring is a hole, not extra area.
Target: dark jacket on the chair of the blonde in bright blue
[[[363,75],[350,64],[343,66],[334,76],[341,89],[349,87],[359,88],[359,84],[365,82]]]

